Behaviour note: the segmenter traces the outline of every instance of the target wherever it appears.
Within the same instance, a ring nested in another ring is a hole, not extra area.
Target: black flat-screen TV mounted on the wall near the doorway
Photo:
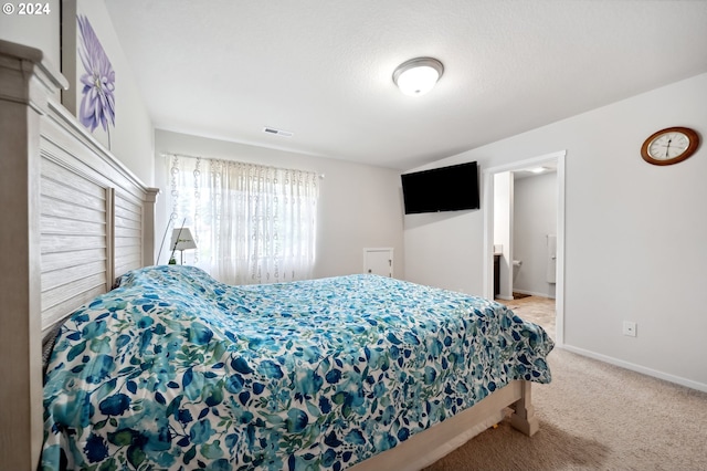
[[[475,161],[402,174],[405,214],[478,209],[478,169]]]

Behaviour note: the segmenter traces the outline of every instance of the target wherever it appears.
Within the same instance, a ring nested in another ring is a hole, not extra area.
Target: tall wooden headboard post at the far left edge
[[[42,53],[0,42],[0,460],[36,469],[42,447],[40,118],[66,85]]]

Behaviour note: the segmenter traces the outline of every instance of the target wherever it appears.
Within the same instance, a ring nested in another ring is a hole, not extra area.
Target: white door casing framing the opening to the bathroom
[[[556,332],[555,341],[558,346],[563,343],[564,331],[564,156],[561,150],[545,156],[519,160],[499,167],[484,170],[484,295],[494,299],[494,193],[497,175],[525,170],[534,167],[549,166],[557,168],[557,258],[556,258]],[[513,228],[510,228],[513,231]],[[510,234],[513,240],[513,233]],[[513,260],[513,249],[509,250]]]

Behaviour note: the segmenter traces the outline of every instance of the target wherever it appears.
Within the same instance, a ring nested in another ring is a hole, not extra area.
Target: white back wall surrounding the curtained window
[[[209,139],[157,129],[156,185],[168,191],[162,153],[272,165],[324,174],[319,188],[315,278],[363,272],[363,248],[394,249],[394,276],[403,278],[402,190],[400,172],[264,147]],[[158,199],[161,242],[167,224],[166,198]]]

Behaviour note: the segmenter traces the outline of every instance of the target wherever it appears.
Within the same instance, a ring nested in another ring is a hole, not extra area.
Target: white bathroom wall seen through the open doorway
[[[555,297],[556,284],[547,282],[548,234],[557,236],[557,174],[516,178],[513,258],[523,264],[514,274],[514,291]]]

